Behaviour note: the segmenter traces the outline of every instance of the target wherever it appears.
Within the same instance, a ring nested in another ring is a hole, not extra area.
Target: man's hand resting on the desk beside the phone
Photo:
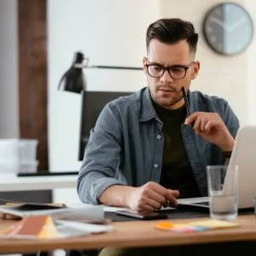
[[[133,188],[126,197],[128,207],[139,212],[153,212],[169,203],[177,205],[177,190],[166,189],[159,183],[148,182],[141,187]]]

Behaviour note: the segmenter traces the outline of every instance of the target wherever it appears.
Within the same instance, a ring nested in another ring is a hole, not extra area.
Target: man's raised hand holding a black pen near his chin
[[[218,145],[223,151],[233,149],[235,139],[220,118],[218,113],[195,112],[186,120],[185,125],[195,122],[194,130],[197,135],[205,138],[208,142]]]

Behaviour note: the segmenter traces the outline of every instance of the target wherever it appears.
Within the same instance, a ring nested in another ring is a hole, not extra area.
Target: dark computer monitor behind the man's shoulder
[[[83,92],[81,130],[79,139],[79,160],[84,158],[84,149],[90,137],[90,130],[95,126],[96,120],[108,102],[119,96],[128,96],[131,92],[125,91],[88,91]]]

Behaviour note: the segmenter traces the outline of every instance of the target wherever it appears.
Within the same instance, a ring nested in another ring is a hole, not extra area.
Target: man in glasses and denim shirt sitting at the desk
[[[102,110],[79,172],[81,201],[153,212],[177,197],[207,195],[206,166],[224,164],[239,121],[224,99],[189,90],[200,70],[197,41],[184,20],[148,26],[148,87]]]

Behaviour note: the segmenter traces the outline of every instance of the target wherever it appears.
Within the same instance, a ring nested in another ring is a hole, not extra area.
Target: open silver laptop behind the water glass
[[[239,129],[236,136],[224,189],[229,189],[229,182],[233,178],[232,166],[239,166],[238,208],[251,208],[255,205],[256,196],[256,125],[246,125]],[[209,207],[208,197],[179,199],[180,206]]]

